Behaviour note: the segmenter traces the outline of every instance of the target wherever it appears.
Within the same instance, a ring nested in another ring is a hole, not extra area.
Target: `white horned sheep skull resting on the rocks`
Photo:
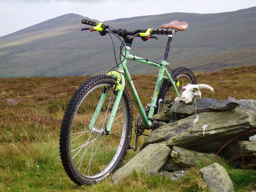
[[[214,92],[214,89],[207,84],[188,84],[182,87],[180,96],[176,97],[175,101],[183,101],[186,104],[191,103],[196,96],[201,98],[200,89],[209,89]]]

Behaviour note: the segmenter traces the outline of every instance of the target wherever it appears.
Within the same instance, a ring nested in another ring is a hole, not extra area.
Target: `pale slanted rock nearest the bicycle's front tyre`
[[[156,174],[164,165],[170,153],[171,149],[166,145],[148,145],[112,175],[113,183],[119,183],[134,171]]]

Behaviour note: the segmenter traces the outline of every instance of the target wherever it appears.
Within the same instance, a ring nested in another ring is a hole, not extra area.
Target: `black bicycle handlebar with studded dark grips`
[[[94,21],[94,20],[88,20],[88,19],[83,19],[81,21],[81,23],[86,24],[86,25],[91,25],[91,26],[97,26],[99,25],[99,21]],[[126,31],[126,30],[116,30],[113,29],[111,26],[108,26],[106,24],[102,23],[102,26],[105,27],[105,29],[109,29],[111,32],[113,33],[123,33],[125,35],[135,35],[138,33],[145,33],[148,29],[137,29],[135,31]],[[176,33],[175,29],[151,29],[150,30],[150,34],[149,35],[153,35],[153,34],[160,34],[160,35],[174,35]]]

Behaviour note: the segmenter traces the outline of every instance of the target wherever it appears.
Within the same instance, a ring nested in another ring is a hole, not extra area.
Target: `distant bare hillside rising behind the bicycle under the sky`
[[[82,15],[67,14],[0,37],[0,77],[78,76],[104,74],[114,67],[109,35],[80,31]],[[188,29],[172,41],[171,68],[198,72],[255,65],[256,7],[215,14],[167,13],[105,21],[113,28],[160,28],[172,20],[187,21]],[[131,54],[161,61],[167,36],[159,41],[134,40]],[[114,38],[116,50],[120,41]],[[117,53],[119,53],[117,51]],[[131,62],[133,74],[152,74],[154,67]]]

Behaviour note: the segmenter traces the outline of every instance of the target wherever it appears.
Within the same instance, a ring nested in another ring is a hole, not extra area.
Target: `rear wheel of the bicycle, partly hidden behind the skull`
[[[178,67],[175,70],[173,70],[173,73],[180,82],[180,86],[177,87],[178,93],[180,93],[183,86],[186,86],[188,84],[196,84],[196,78],[194,73],[187,67]],[[167,79],[163,79],[163,84],[159,90],[159,94],[157,97],[157,108],[155,108],[154,114],[157,114],[158,112],[160,99],[162,99],[163,102],[167,103],[174,102],[176,94],[174,89],[170,87],[172,87],[172,83]],[[166,104],[163,103],[160,111],[166,110],[167,107],[168,106],[166,106]]]

